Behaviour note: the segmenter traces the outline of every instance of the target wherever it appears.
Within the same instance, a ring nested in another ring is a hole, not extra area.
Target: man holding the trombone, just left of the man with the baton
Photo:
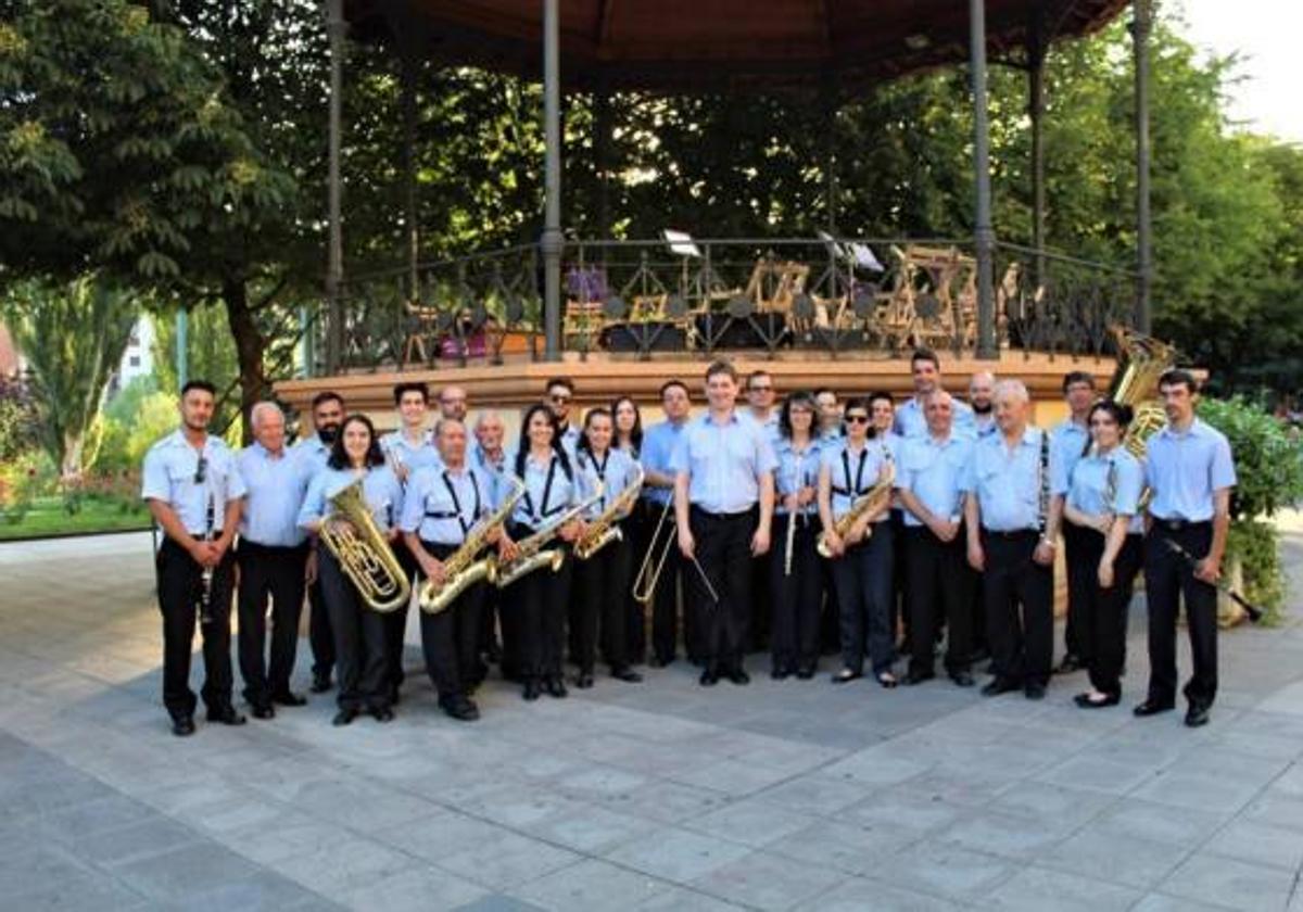
[[[666,380],[662,384],[661,406],[665,410],[665,421],[648,427],[642,438],[641,453],[642,491],[648,502],[648,524],[653,530],[661,522],[666,509],[671,511],[666,521],[674,521],[674,470],[670,468],[670,460],[692,416],[692,400],[683,380]],[[650,546],[644,549],[640,560],[648,559],[649,554],[653,563],[659,560],[661,547],[657,545],[654,552],[650,551]],[[671,664],[678,657],[681,573],[683,558],[678,547],[671,547],[666,554],[665,565],[661,568],[652,606],[652,664],[658,668]],[[687,593],[687,585],[683,589]],[[700,662],[705,654],[704,636],[697,621],[698,618],[684,606],[683,640],[688,650],[688,659],[692,662]]]

